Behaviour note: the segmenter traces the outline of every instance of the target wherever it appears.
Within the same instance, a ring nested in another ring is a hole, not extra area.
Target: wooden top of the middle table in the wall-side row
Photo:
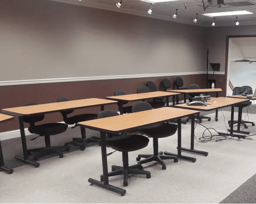
[[[127,94],[121,96],[108,96],[106,99],[116,100],[116,101],[139,101],[142,99],[152,99],[158,97],[176,96],[180,93],[167,92],[167,91],[153,91],[140,94]]]

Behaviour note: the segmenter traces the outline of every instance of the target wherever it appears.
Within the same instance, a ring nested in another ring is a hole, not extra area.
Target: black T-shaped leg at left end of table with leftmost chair
[[[23,117],[19,116],[19,130],[20,130],[20,137],[22,139],[22,148],[23,148],[23,157],[19,155],[15,155],[14,158],[21,160],[25,163],[32,164],[35,167],[39,167],[38,162],[30,161],[28,159],[28,149],[27,149],[27,142],[26,142],[26,136],[25,136],[25,131],[24,131],[24,123],[23,123]]]

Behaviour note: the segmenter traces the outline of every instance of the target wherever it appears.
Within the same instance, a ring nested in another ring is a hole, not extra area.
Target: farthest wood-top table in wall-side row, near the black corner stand
[[[194,94],[194,93],[207,93],[208,92],[215,92],[216,98],[218,98],[218,93],[222,92],[221,88],[203,88],[203,89],[177,89],[177,90],[167,90],[171,92],[178,92],[181,94],[184,94],[184,103],[186,103],[186,94]],[[177,100],[177,104],[179,103],[179,100]],[[218,110],[216,109],[215,113],[215,121],[218,121]]]

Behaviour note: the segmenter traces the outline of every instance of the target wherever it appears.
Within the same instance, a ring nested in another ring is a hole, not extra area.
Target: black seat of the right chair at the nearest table
[[[169,137],[175,134],[177,131],[177,125],[170,123],[162,123],[160,126],[153,126],[148,128],[143,128],[140,130],[141,133],[148,135],[150,137]]]

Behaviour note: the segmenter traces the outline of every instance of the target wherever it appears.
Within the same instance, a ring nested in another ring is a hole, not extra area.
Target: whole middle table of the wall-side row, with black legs
[[[127,94],[127,95],[121,95],[121,96],[108,96],[106,99],[109,100],[115,100],[118,101],[118,108],[120,111],[120,114],[123,114],[123,102],[131,102],[131,101],[141,101],[146,99],[154,99],[154,98],[166,98],[166,106],[169,106],[169,97],[170,96],[177,96],[180,95],[180,93],[173,93],[173,92],[167,92],[167,91],[153,91],[153,92],[146,92],[146,93],[140,93],[140,94]],[[174,98],[173,98],[173,104],[175,104]]]

